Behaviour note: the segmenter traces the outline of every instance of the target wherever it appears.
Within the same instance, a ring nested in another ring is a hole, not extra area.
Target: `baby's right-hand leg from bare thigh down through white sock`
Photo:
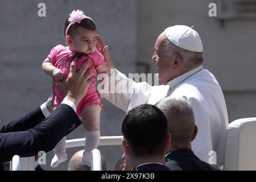
[[[88,105],[81,111],[82,125],[86,130],[85,134],[85,152],[82,162],[90,166],[91,151],[98,147],[100,142],[100,105]]]

